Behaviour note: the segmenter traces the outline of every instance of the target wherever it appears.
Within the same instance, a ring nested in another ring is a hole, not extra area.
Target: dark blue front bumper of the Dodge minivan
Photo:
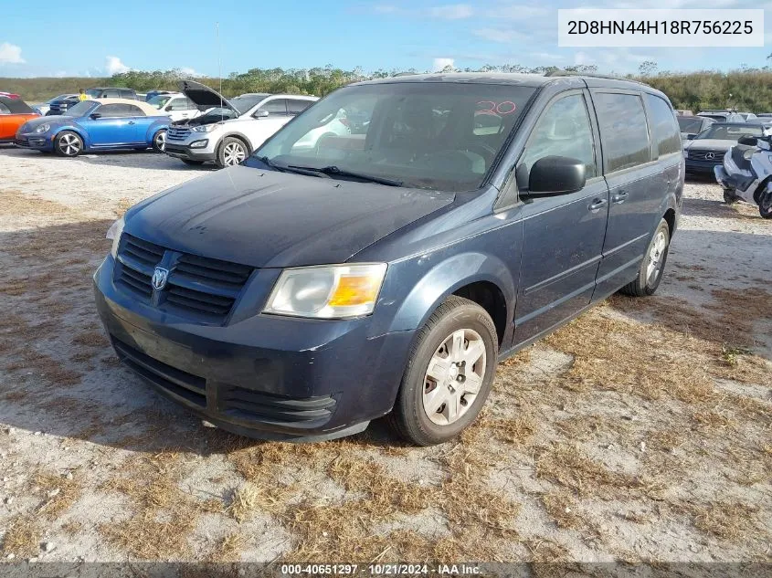
[[[372,337],[369,318],[175,320],[116,288],[113,263],[107,257],[94,282],[119,358],[213,424],[261,439],[319,441],[362,431],[391,410],[414,331]]]

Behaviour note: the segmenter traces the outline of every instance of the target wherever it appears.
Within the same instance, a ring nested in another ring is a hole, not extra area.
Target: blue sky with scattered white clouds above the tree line
[[[635,72],[758,68],[772,64],[772,0],[712,0],[711,8],[765,12],[765,47],[557,47],[557,9],[703,8],[704,0],[296,0],[198,3],[130,0],[97,4],[0,0],[0,77],[109,76],[129,69],[181,68],[218,76],[249,68],[361,67],[418,70],[598,65]],[[30,7],[32,6],[32,7]],[[196,7],[194,7],[196,6]]]

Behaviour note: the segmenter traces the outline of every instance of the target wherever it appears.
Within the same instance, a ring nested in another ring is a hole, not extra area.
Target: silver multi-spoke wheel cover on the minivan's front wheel
[[[485,342],[477,331],[453,331],[440,343],[424,377],[423,406],[431,422],[449,426],[469,411],[486,362]]]

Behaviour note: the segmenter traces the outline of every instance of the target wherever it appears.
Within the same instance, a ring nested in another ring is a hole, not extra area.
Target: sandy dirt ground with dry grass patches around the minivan
[[[112,221],[208,169],[0,148],[0,559],[772,560],[772,222],[686,186],[657,296],[499,367],[460,440],[203,426],[122,368],[91,274]]]

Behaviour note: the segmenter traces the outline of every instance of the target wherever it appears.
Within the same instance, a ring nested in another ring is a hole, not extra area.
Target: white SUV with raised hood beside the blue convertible
[[[187,164],[238,164],[317,97],[245,94],[226,100],[193,80],[180,82],[185,97],[206,110],[195,119],[176,121],[166,132],[166,154]]]

